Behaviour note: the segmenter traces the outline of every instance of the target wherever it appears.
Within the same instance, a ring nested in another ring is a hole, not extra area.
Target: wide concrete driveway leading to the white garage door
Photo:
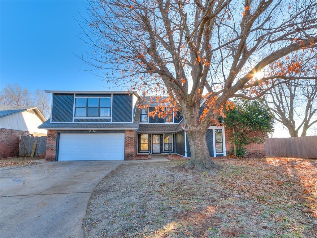
[[[0,172],[0,237],[83,237],[94,187],[123,161],[45,162]]]

